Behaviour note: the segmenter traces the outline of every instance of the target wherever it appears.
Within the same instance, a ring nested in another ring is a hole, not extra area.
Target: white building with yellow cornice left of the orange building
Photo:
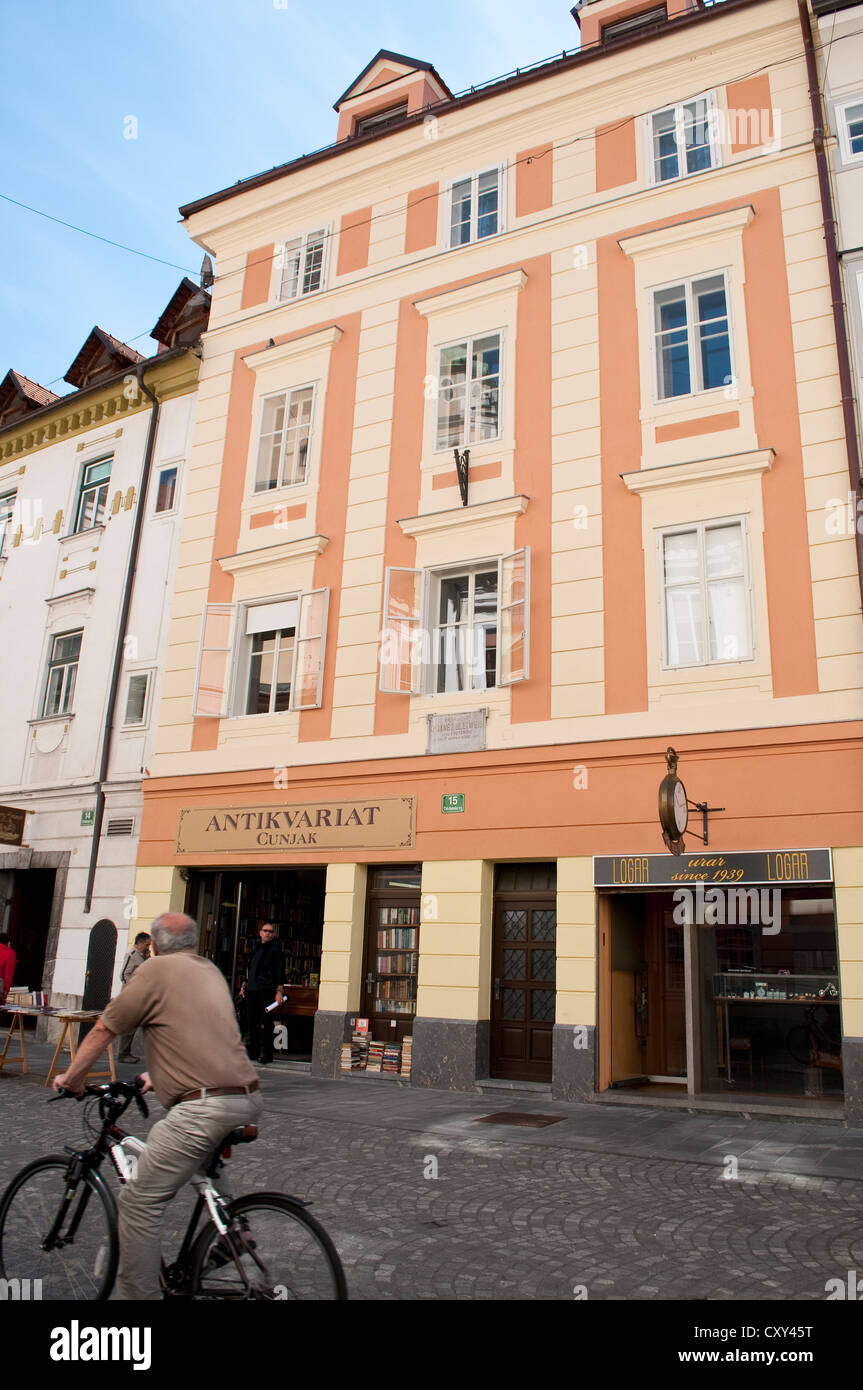
[[[207,313],[183,281],[156,356],[94,328],[69,395],[0,385],[0,803],[26,812],[0,844],[0,930],[15,986],[57,1005],[107,1002],[135,916]]]

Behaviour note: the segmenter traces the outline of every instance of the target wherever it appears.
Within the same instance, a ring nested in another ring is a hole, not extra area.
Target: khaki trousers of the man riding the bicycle
[[[138,1173],[120,1193],[118,1298],[161,1298],[161,1223],[168,1202],[206,1165],[220,1140],[239,1125],[256,1125],[263,1108],[260,1091],[214,1095],[183,1101],[153,1126]]]

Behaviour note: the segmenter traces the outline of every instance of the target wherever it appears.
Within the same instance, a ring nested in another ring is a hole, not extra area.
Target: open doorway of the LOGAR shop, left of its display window
[[[685,1086],[684,927],[666,894],[631,894],[610,905],[613,1087]]]

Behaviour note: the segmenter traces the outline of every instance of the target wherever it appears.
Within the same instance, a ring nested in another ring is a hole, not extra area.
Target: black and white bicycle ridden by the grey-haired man
[[[43,1298],[107,1300],[120,1259],[117,1202],[100,1172],[106,1158],[121,1183],[133,1179],[142,1140],[118,1127],[132,1101],[149,1115],[143,1081],[88,1086],[78,1099],[97,1099],[99,1131],[89,1148],[64,1147],[22,1168],[0,1198],[0,1276],[40,1280]],[[53,1099],[72,1093],[61,1091]],[[164,1298],[346,1300],[345,1272],[332,1240],[285,1193],[231,1198],[217,1177],[233,1144],[257,1138],[257,1126],[231,1130],[190,1180],[197,1200],[179,1254],[161,1262]],[[200,1225],[204,1212],[208,1220]]]

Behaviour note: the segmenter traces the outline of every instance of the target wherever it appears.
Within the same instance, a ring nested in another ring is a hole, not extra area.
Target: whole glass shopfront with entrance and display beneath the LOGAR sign
[[[600,1091],[842,1099],[827,884],[600,894],[599,983]]]

